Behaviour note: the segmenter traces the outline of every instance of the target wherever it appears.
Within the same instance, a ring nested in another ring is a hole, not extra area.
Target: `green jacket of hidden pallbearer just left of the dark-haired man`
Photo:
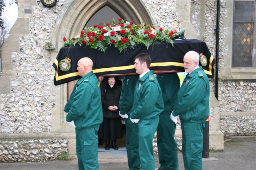
[[[122,92],[119,100],[120,114],[122,115],[130,115],[134,98],[134,88],[138,79],[138,75],[124,77]]]

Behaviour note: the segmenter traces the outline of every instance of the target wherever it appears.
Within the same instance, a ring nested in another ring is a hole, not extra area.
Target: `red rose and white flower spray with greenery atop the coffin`
[[[108,45],[114,45],[120,53],[126,48],[134,49],[137,44],[145,45],[148,49],[155,41],[171,43],[173,39],[182,37],[184,31],[177,32],[140,23],[134,24],[132,21],[118,19],[118,23],[113,19],[112,23],[106,23],[104,26],[94,25],[93,27],[84,27],[78,37],[67,39],[63,38],[64,47],[72,45],[90,45],[93,49],[105,52]]]

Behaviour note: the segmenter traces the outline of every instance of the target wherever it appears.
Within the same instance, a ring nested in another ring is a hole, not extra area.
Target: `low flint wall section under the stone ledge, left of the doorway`
[[[68,152],[67,139],[0,141],[0,162],[56,160]]]

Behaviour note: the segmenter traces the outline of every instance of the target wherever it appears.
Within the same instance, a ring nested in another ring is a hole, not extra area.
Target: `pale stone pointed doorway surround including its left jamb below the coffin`
[[[84,28],[86,23],[102,8],[108,6],[111,8],[120,18],[133,21],[136,24],[141,22],[156,25],[153,17],[141,0],[74,0],[66,8],[62,14],[62,18],[56,22],[54,31],[52,34],[52,43],[56,47],[56,51],[52,53],[52,59],[55,59],[58,51],[63,46],[63,37],[74,37],[80,34],[80,31]],[[112,20],[112,18],[110,18]],[[56,109],[52,110],[53,119],[59,124],[53,124],[54,133],[71,133],[74,134],[74,129],[70,129],[66,124],[66,113],[63,112],[64,106],[68,100],[68,89],[72,89],[74,86],[72,83],[62,84],[54,87],[52,90],[56,95]],[[72,90],[69,90],[72,91]],[[69,138],[70,154],[75,154],[75,140],[71,135]],[[72,150],[72,151],[71,151]]]

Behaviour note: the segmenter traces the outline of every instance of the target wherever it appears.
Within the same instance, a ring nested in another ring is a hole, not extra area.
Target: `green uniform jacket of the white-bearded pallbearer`
[[[192,71],[178,91],[172,114],[180,115],[182,121],[205,122],[209,116],[209,86],[208,77],[201,66]]]

